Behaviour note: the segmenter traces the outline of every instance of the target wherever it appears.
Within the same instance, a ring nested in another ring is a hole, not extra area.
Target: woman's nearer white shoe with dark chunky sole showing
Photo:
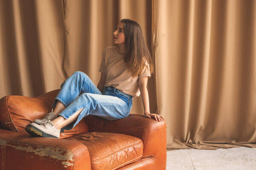
[[[41,125],[32,122],[29,125],[27,125],[26,131],[32,136],[42,136],[51,138],[60,138],[61,133],[61,130],[56,129],[50,120],[44,122]]]

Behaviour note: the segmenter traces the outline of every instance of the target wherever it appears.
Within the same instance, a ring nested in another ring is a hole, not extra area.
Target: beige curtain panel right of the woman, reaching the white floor
[[[255,1],[154,3],[167,148],[255,147]]]

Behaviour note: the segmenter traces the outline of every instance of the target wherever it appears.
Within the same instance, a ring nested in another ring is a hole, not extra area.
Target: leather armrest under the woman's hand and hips
[[[143,141],[143,158],[153,157],[157,170],[166,169],[166,122],[130,114],[119,120],[107,120],[88,115],[89,132],[111,132],[135,136]]]

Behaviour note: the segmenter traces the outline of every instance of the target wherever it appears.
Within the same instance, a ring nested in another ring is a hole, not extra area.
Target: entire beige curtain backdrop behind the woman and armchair
[[[256,147],[255,0],[0,0],[0,97],[41,95],[75,71],[97,85],[123,18],[152,52],[167,148]],[[143,114],[140,97],[131,113]]]

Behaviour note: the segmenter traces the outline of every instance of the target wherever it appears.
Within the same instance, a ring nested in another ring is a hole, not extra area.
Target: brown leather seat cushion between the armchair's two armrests
[[[92,170],[112,170],[136,162],[143,155],[141,139],[119,133],[89,132],[71,136],[89,150]]]

